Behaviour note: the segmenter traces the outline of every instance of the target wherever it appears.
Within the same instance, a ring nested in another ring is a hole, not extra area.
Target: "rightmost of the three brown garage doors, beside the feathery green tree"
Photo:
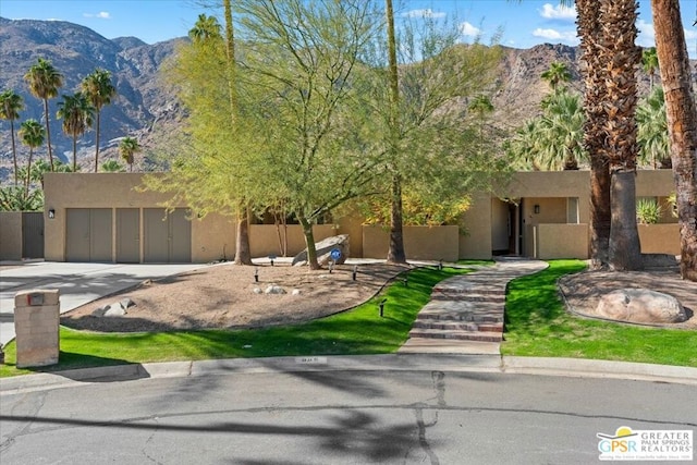
[[[192,261],[192,223],[186,210],[167,213],[162,208],[143,209],[145,243],[143,261],[188,264]]]

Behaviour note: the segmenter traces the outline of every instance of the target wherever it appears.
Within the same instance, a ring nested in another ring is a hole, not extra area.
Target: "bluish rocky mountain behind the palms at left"
[[[176,120],[176,99],[160,85],[158,70],[182,40],[185,39],[155,45],[147,45],[135,37],[109,40],[73,23],[0,17],[0,89],[13,89],[26,105],[20,113],[20,121],[15,121],[15,129],[29,118],[44,121],[42,102],[29,94],[24,81],[24,75],[39,57],[49,60],[63,75],[64,85],[59,95],[78,90],[86,75],[98,68],[103,69],[111,72],[117,97],[102,108],[101,143],[105,156],[114,156],[119,138],[135,135],[140,139],[147,136],[156,122]],[[62,133],[61,121],[56,118],[59,100],[49,100],[51,144],[54,154],[68,161],[72,159],[72,139]],[[0,122],[0,164],[12,158],[9,129],[9,122]],[[78,142],[78,158],[85,159],[83,164],[89,167],[87,159],[94,162],[95,135],[94,131],[88,131]],[[20,148],[19,151],[24,150]]]

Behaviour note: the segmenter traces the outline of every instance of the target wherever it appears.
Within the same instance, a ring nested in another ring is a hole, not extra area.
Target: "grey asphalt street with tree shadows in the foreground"
[[[403,357],[403,369],[319,357],[295,360],[307,370],[257,360],[3,389],[0,462],[589,464],[598,433],[697,429],[695,384],[420,369],[427,358]]]

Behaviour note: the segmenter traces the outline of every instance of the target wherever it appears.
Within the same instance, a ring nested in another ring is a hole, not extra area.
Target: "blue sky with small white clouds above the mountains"
[[[537,44],[577,45],[575,10],[557,0],[394,0],[395,10],[413,16],[447,15],[461,24],[465,36],[488,39],[501,29],[501,44],[529,48]],[[695,0],[681,0],[687,49],[697,58]],[[61,20],[87,26],[112,39],[134,36],[154,44],[185,36],[199,13],[196,0],[0,0],[0,16],[20,20]],[[653,45],[649,0],[639,1],[637,44]]]

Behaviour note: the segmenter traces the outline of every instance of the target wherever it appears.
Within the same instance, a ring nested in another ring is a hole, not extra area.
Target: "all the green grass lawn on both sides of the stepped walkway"
[[[635,327],[588,320],[565,313],[559,277],[578,272],[578,260],[553,260],[509,285],[504,355],[597,358],[697,367],[697,331]],[[469,270],[419,268],[359,307],[304,325],[259,330],[205,330],[101,334],[61,328],[58,365],[16,369],[15,345],[5,348],[0,377],[109,365],[207,358],[293,355],[362,355],[396,351],[407,339],[431,289]],[[384,317],[378,303],[387,298]]]

